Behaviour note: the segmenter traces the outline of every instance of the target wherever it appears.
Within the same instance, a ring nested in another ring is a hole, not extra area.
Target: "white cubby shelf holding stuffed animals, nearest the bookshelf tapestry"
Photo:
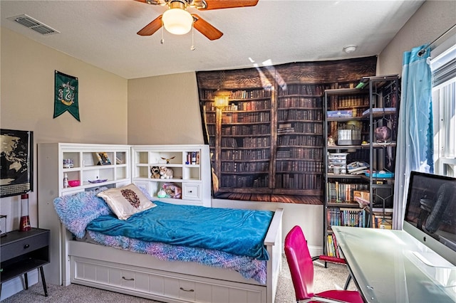
[[[135,145],[131,151],[132,181],[145,188],[152,198],[168,203],[211,206],[209,145]],[[195,164],[192,164],[192,154],[196,156]],[[172,179],[152,178],[153,166],[172,169]],[[180,186],[180,198],[159,198],[160,188],[170,183]]]

